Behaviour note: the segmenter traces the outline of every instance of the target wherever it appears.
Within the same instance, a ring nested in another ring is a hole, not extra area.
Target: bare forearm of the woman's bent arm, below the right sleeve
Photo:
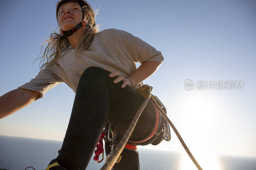
[[[141,83],[150,77],[163,62],[147,61],[140,64],[137,70],[135,70],[127,78],[130,78],[134,85]]]

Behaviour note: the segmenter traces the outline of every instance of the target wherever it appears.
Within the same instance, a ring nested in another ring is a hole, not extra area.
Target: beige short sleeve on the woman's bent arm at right
[[[131,33],[124,30],[114,28],[112,28],[112,30],[119,48],[132,62],[164,61],[161,51],[157,51],[156,48],[141,40],[139,37],[133,36]]]

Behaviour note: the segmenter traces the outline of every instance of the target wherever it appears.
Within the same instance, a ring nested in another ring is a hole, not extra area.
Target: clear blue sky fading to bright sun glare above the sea
[[[40,60],[32,63],[57,28],[57,2],[1,0],[0,96],[38,74]],[[256,156],[255,1],[88,2],[99,10],[100,31],[125,30],[161,51],[164,62],[143,83],[153,86],[192,153]],[[185,88],[188,79],[193,89]],[[207,89],[208,81],[215,86]],[[232,81],[244,83],[228,89]],[[63,140],[74,98],[65,83],[55,86],[1,119],[0,135]],[[185,152],[173,130],[171,141],[140,148]]]

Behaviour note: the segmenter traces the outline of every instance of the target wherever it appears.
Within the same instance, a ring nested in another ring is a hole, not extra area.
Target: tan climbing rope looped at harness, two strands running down
[[[138,110],[138,112],[136,113],[135,117],[133,118],[129,128],[127,129],[126,133],[124,134],[122,140],[119,142],[119,144],[116,146],[116,149],[113,151],[113,153],[111,154],[111,156],[107,159],[106,163],[101,167],[100,170],[111,170],[112,167],[115,165],[117,158],[120,156],[121,152],[124,149],[125,144],[127,143],[128,139],[130,138],[132,131],[136,125],[136,123],[138,122],[138,119],[143,111],[143,109],[146,107],[146,105],[148,104],[148,101],[151,99],[151,101],[153,102],[153,104],[156,106],[156,108],[159,110],[159,112],[163,115],[164,119],[171,125],[173,131],[175,132],[175,134],[177,135],[177,137],[180,140],[180,143],[182,144],[182,146],[184,147],[184,149],[186,150],[186,152],[188,153],[188,156],[190,157],[190,159],[194,162],[194,164],[196,165],[198,170],[203,170],[201,168],[201,166],[197,163],[196,159],[194,158],[194,156],[192,155],[192,153],[189,151],[187,145],[185,144],[185,142],[183,141],[183,139],[181,138],[178,130],[174,127],[174,125],[172,124],[172,122],[170,121],[170,119],[167,117],[167,115],[164,113],[164,111],[162,110],[162,108],[160,106],[158,106],[158,104],[156,103],[156,98],[155,96],[151,96],[151,88],[149,85],[142,85],[141,87],[139,87],[138,89],[136,89],[137,92],[139,92],[140,94],[144,95],[147,94],[147,97],[145,99],[145,101],[142,103],[142,105],[140,106],[140,109]]]

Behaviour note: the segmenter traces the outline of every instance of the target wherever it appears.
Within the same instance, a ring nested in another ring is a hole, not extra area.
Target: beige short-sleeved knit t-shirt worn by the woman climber
[[[96,33],[90,47],[83,51],[81,57],[76,58],[74,52],[75,49],[69,48],[54,66],[46,66],[30,82],[18,88],[41,93],[36,100],[62,82],[76,93],[79,79],[88,67],[110,68],[126,78],[137,69],[135,63],[164,61],[163,55],[156,48],[131,33],[114,28]],[[143,82],[133,89],[141,85]]]

